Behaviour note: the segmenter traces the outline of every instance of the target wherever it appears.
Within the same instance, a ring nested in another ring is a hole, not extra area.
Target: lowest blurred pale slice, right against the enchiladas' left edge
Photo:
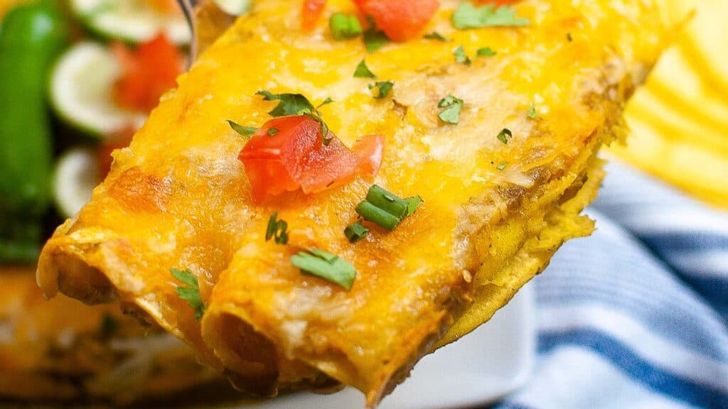
[[[58,212],[73,217],[91,199],[99,183],[98,159],[87,148],[71,148],[58,159],[53,175],[53,199]]]

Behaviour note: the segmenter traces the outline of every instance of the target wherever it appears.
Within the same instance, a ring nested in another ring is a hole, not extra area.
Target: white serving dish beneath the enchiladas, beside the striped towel
[[[487,405],[518,389],[531,374],[535,354],[535,303],[530,285],[477,330],[434,354],[384,398],[380,409],[447,409]],[[229,409],[357,409],[364,396],[347,388],[336,394],[281,394],[240,402]]]

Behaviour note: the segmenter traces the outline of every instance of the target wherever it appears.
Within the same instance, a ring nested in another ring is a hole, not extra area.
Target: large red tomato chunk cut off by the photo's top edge
[[[355,0],[355,3],[394,41],[419,36],[440,8],[438,0]]]

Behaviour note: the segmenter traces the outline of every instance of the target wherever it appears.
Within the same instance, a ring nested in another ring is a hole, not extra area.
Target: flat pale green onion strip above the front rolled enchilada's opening
[[[290,258],[293,266],[301,269],[304,274],[326,279],[334,284],[351,290],[357,270],[351,263],[338,255],[327,253],[317,248],[301,251]]]

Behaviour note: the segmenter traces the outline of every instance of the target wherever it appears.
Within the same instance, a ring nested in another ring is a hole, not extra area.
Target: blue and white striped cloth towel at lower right
[[[728,213],[607,170],[597,231],[534,279],[535,373],[496,408],[728,409]]]

